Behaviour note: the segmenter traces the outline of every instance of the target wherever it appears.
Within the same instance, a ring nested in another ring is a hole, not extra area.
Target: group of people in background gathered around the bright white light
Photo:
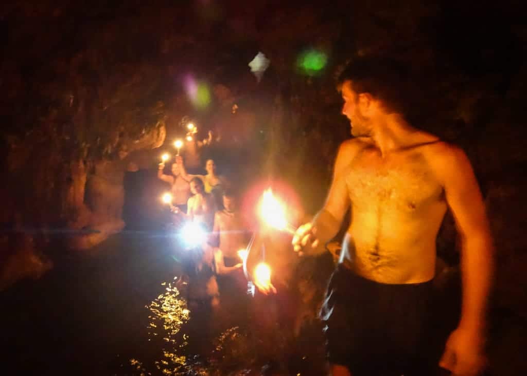
[[[164,167],[159,165],[158,177],[172,187],[173,222],[198,223],[208,233],[187,262],[189,305],[210,304],[217,309],[223,290],[224,300],[232,297],[233,289],[246,290],[238,250],[247,247],[248,226],[238,210],[235,192],[228,180],[217,174],[214,160],[207,160],[206,175],[188,174],[181,156],[175,157],[172,175],[165,175]]]

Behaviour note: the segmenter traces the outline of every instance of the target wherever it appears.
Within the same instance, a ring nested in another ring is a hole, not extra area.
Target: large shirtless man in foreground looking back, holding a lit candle
[[[334,376],[431,375],[432,360],[419,363],[432,340],[426,318],[436,235],[450,208],[462,238],[463,302],[440,366],[472,376],[484,363],[493,271],[482,195],[463,150],[406,122],[398,107],[404,81],[393,66],[363,58],[340,76],[342,113],[355,138],[340,146],[325,205],[293,244],[306,254],[323,251],[351,208],[321,312]]]

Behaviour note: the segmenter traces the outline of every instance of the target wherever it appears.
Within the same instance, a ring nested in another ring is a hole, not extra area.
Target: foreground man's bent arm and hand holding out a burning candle
[[[326,203],[311,223],[298,228],[293,238],[295,250],[299,251],[302,246],[311,242],[311,247],[309,247],[311,249],[305,248],[304,251],[310,254],[324,252],[325,243],[337,234],[350,204],[346,186],[346,172],[350,162],[356,156],[357,150],[354,139],[347,140],[340,145]]]

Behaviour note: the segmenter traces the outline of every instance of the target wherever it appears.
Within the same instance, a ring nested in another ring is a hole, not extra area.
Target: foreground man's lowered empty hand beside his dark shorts
[[[440,367],[451,371],[453,376],[475,376],[485,364],[483,340],[479,332],[457,328],[450,334]]]

